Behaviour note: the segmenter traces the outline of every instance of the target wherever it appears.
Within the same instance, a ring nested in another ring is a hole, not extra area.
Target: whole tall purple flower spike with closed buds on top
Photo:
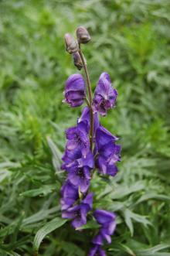
[[[87,29],[78,27],[76,39],[69,33],[65,35],[66,50],[72,54],[74,65],[78,70],[83,68],[86,80],[80,73],[72,74],[66,80],[64,102],[76,108],[84,102],[80,118],[75,127],[66,130],[66,150],[63,155],[62,169],[66,171],[66,181],[61,189],[62,217],[72,220],[72,226],[81,230],[87,224],[90,211],[99,224],[98,233],[92,239],[89,256],[106,255],[102,249],[104,241],[111,242],[111,235],[116,228],[116,215],[107,210],[93,210],[93,193],[90,193],[90,180],[93,172],[99,175],[115,176],[116,163],[121,160],[121,145],[117,137],[100,125],[99,114],[106,116],[114,108],[117,90],[111,85],[108,73],[101,73],[97,87],[92,95],[87,63],[84,59],[81,44],[90,41]]]

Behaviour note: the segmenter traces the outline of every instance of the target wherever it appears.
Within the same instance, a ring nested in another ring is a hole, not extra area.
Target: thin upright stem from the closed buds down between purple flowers
[[[92,90],[91,90],[91,84],[90,84],[90,77],[89,77],[89,73],[87,70],[87,64],[84,60],[83,53],[82,53],[81,49],[79,50],[79,53],[80,53],[81,61],[83,63],[83,70],[84,70],[86,80],[87,80],[87,91],[88,91],[88,97],[89,97],[88,107],[90,109],[90,150],[92,151],[93,150],[93,108],[92,108],[93,97],[92,97]]]

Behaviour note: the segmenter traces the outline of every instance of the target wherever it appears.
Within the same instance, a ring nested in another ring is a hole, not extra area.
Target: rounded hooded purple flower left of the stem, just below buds
[[[72,108],[83,104],[86,97],[86,86],[82,75],[74,73],[66,80],[64,95],[64,102],[70,104]]]

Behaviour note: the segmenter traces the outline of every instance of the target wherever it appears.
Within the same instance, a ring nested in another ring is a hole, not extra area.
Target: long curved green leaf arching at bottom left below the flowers
[[[45,226],[41,227],[36,233],[36,237],[33,241],[33,250],[39,251],[39,245],[42,242],[42,239],[46,237],[47,234],[51,233],[53,230],[63,226],[66,223],[66,220],[63,220],[59,217],[49,221]]]

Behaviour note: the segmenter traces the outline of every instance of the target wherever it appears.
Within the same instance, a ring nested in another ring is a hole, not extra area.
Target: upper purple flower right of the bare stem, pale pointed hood
[[[106,115],[107,110],[114,107],[117,90],[111,86],[110,76],[104,72],[100,75],[93,97],[93,105],[101,115]]]

